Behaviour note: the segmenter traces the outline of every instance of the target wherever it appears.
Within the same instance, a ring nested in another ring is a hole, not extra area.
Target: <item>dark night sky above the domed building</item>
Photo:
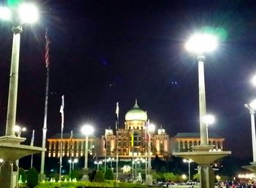
[[[4,4],[4,1],[1,1]],[[215,52],[206,54],[206,101],[217,122],[209,132],[225,138],[225,149],[252,157],[249,111],[256,95],[254,1],[36,1],[39,23],[24,25],[20,44],[17,124],[35,129],[42,141],[45,102],[45,28],[50,36],[48,137],[89,122],[102,135],[120,127],[135,104],[170,136],[199,132],[197,61],[184,50],[202,28],[225,31]],[[12,47],[12,24],[0,26],[0,124],[4,134]],[[223,33],[223,32],[222,32]]]

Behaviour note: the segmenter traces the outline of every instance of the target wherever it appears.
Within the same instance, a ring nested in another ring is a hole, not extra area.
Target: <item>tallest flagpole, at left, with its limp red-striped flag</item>
[[[46,144],[46,132],[47,132],[47,112],[48,112],[48,90],[49,90],[49,45],[50,40],[48,39],[48,30],[45,32],[45,66],[46,66],[46,87],[45,87],[45,117],[44,126],[42,128],[42,149],[45,149]],[[45,172],[45,150],[41,154],[41,168],[40,173]],[[42,177],[42,176],[41,176]]]

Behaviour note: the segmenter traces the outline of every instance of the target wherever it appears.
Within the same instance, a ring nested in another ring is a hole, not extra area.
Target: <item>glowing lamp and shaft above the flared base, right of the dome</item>
[[[203,60],[204,53],[211,52],[217,47],[217,38],[209,34],[195,34],[185,45],[189,52],[194,52],[198,60],[198,84],[199,84],[199,112],[200,112],[200,146],[208,145],[208,130],[203,117],[206,116],[206,89],[204,79]]]

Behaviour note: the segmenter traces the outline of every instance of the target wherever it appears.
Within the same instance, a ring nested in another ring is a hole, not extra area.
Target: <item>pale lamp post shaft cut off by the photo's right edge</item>
[[[249,104],[244,104],[246,109],[249,109],[251,114],[251,127],[252,127],[252,156],[253,162],[256,162],[256,133],[255,133],[255,109],[256,109],[256,100],[252,101]]]

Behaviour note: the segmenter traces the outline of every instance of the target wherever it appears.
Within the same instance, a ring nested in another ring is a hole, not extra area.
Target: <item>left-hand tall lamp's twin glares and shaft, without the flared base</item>
[[[13,11],[12,11],[13,10]],[[10,68],[10,85],[7,107],[7,124],[5,135],[15,136],[15,121],[18,93],[18,66],[20,57],[20,34],[23,23],[34,23],[38,19],[37,8],[33,4],[20,4],[15,9],[0,8],[0,19],[12,22],[12,60]]]

